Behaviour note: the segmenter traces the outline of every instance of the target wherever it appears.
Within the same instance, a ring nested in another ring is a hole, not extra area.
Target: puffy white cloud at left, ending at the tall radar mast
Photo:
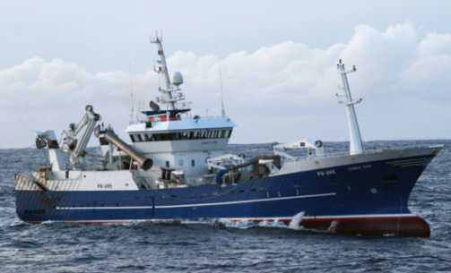
[[[134,75],[138,96],[155,77]],[[45,62],[36,56],[0,71],[3,110],[73,107],[84,101],[111,102],[130,98],[130,76],[125,72],[88,73],[61,59]],[[18,104],[20,102],[20,104]]]

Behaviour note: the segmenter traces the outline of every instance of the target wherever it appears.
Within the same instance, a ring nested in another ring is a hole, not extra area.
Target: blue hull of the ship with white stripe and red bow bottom
[[[396,166],[390,160],[263,179],[178,189],[99,192],[46,192],[16,189],[17,215],[23,221],[105,223],[170,218],[247,218],[290,222],[304,212],[301,226],[334,227],[369,235],[429,236],[429,226],[407,207],[424,165]]]

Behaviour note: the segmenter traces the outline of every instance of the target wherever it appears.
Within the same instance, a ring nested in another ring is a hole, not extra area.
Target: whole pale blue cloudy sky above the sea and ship
[[[340,58],[358,70],[363,141],[451,139],[449,1],[0,5],[0,149],[33,145],[33,131],[59,138],[86,105],[130,142],[132,107],[160,95],[150,38],[161,30],[193,115],[221,115],[222,82],[230,143],[349,141]]]

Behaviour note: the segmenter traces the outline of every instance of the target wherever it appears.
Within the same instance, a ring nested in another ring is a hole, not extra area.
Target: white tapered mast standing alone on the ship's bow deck
[[[355,65],[353,66],[352,70],[346,72],[344,70],[344,64],[342,64],[342,59],[340,59],[339,64],[337,64],[337,69],[340,70],[340,73],[342,75],[342,81],[343,81],[343,90],[344,90],[344,97],[346,98],[346,101],[344,103],[344,106],[346,107],[346,113],[348,114],[348,124],[349,124],[349,130],[350,130],[350,154],[361,154],[363,153],[362,145],[361,145],[361,136],[360,136],[360,129],[359,129],[359,123],[357,122],[357,115],[355,114],[354,104],[358,104],[361,102],[361,98],[357,98],[356,100],[352,100],[351,98],[351,90],[349,89],[348,84],[348,78],[346,76],[347,73],[353,73],[356,72]],[[338,96],[338,94],[337,94]],[[339,103],[342,103],[342,101],[339,101]]]

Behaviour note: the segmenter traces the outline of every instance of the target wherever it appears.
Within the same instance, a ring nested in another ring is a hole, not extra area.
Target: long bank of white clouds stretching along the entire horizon
[[[388,136],[384,129],[390,127],[384,124],[387,120],[401,123],[399,115],[403,115],[403,126],[415,128],[418,119],[409,123],[405,116],[437,115],[438,109],[447,112],[436,117],[436,123],[450,124],[451,35],[428,33],[421,37],[410,23],[385,31],[360,25],[350,41],[325,50],[287,41],[255,52],[239,51],[221,60],[177,51],[169,56],[168,64],[170,72],[184,76],[182,89],[187,101],[195,102],[193,115],[204,115],[207,108],[211,115],[220,115],[221,65],[226,111],[237,124],[244,124],[234,134],[235,142],[292,141],[316,134],[343,141],[348,128],[344,109],[335,98],[335,93],[341,92],[337,86],[343,85],[335,66],[339,58],[348,69],[357,65],[359,73],[350,74],[349,81],[354,97],[364,98],[357,112],[362,121],[372,122],[360,125],[364,135],[372,136],[369,139],[450,137],[449,130],[433,124],[428,125],[429,133],[419,132],[418,136],[400,130]],[[147,107],[148,101],[159,95],[159,81],[152,71],[134,74],[132,82],[135,111],[138,100]],[[26,146],[30,137],[24,135],[32,130],[65,129],[82,116],[87,104],[98,109],[117,131],[126,128],[130,115],[128,72],[93,74],[77,64],[56,58],[48,62],[36,56],[0,71],[0,89],[2,128],[11,128],[3,147]],[[375,115],[382,121],[377,122]],[[27,126],[24,129],[17,124]],[[278,139],[281,132],[286,139]],[[254,135],[252,140],[249,134]]]

